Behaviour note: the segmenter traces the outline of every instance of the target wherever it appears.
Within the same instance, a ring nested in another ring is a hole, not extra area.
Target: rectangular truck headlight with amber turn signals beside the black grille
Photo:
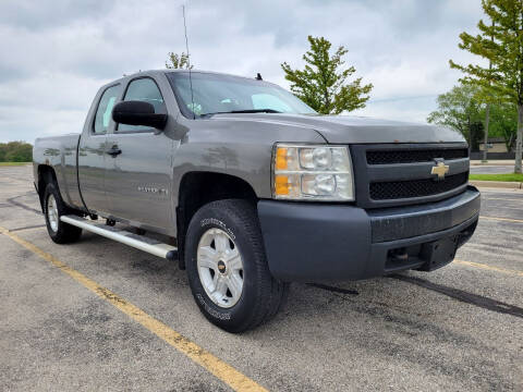
[[[272,179],[272,195],[277,199],[354,200],[346,147],[277,144]]]

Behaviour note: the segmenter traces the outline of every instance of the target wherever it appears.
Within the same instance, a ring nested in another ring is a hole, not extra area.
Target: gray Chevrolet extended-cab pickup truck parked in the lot
[[[86,230],[175,260],[231,332],[276,315],[289,282],[450,262],[478,220],[469,166],[449,128],[319,115],[259,77],[181,70],[101,87],[81,135],[34,148],[52,241]]]

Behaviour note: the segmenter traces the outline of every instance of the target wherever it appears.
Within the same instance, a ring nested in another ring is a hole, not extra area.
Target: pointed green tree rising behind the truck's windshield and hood
[[[364,108],[373,89],[372,84],[362,86],[362,78],[348,78],[356,71],[344,68],[343,56],[348,50],[340,46],[330,54],[331,44],[324,37],[308,36],[311,49],[303,56],[304,70],[293,70],[281,64],[285,78],[291,82],[291,91],[311,108],[323,114],[339,114]]]

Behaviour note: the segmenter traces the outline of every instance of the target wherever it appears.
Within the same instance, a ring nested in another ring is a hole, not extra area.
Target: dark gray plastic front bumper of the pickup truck
[[[472,188],[471,192],[478,195],[475,188]],[[409,231],[397,231],[396,240],[380,243],[373,243],[372,229],[373,219],[378,219],[378,211],[369,216],[366,210],[351,205],[276,200],[259,200],[257,207],[269,270],[272,275],[287,282],[320,282],[384,275],[390,272],[390,268],[387,267],[390,259],[389,250],[401,247],[423,246],[446,237],[455,238],[457,247],[461,246],[474,232],[478,219],[477,203],[478,196],[464,203],[463,205],[471,205],[464,208],[465,215],[457,209],[455,213],[450,215],[450,218],[443,213],[443,218],[440,219],[426,219],[425,223],[435,222],[435,225],[426,225],[428,229],[423,235],[398,237],[399,234],[405,234]],[[409,224],[410,219],[414,219],[413,217],[419,218],[423,222],[419,212],[423,209],[426,211],[430,206],[418,206],[417,216],[412,211],[416,206],[401,207],[405,211],[411,210],[411,215],[405,212],[406,220],[401,224]],[[450,209],[452,208],[450,207]],[[435,208],[435,211],[437,210],[438,208]],[[476,213],[469,217],[471,210],[475,210]],[[381,212],[384,217],[387,217],[386,211]],[[460,221],[459,217],[463,220]],[[397,210],[392,220],[400,224],[398,219],[401,219],[401,213]],[[436,231],[435,228],[439,229],[443,223],[449,223],[449,225]],[[452,226],[452,223],[457,224]],[[429,233],[426,233],[427,231]],[[458,237],[461,238],[464,235],[462,233],[466,233],[466,237],[458,241]],[[410,249],[408,250],[411,252]],[[416,250],[414,249],[414,252]],[[410,258],[409,262],[394,268],[394,270],[419,267],[423,260],[415,259],[415,253],[412,255],[413,258]]]

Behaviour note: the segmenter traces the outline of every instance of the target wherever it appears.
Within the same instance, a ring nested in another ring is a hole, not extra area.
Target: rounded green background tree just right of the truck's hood
[[[427,122],[446,125],[460,132],[472,150],[477,148],[478,130],[482,130],[482,107],[477,100],[478,87],[470,84],[454,86],[449,93],[438,96],[438,109]]]

